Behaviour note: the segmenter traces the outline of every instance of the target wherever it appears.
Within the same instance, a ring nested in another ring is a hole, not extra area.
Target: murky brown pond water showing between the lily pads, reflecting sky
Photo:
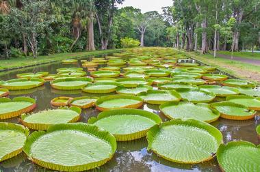
[[[84,59],[84,58],[83,58]],[[88,59],[88,58],[86,58]],[[23,72],[41,72],[47,71],[50,74],[55,74],[57,68],[70,68],[81,67],[78,65],[64,65],[62,63],[52,63],[44,66],[36,66],[34,68],[26,68],[22,70],[13,70],[11,72],[0,72],[0,80],[8,80],[16,78],[16,74]],[[86,69],[84,69],[86,70]],[[108,95],[108,94],[105,94]],[[104,94],[87,94],[79,91],[61,91],[52,89],[49,82],[45,83],[42,87],[36,89],[30,89],[25,91],[10,91],[10,98],[16,96],[29,96],[36,99],[37,108],[34,111],[40,111],[44,109],[51,109],[50,101],[57,96],[104,96]],[[221,101],[221,98],[217,98]],[[168,119],[162,115],[159,111],[159,106],[152,104],[144,104],[143,109],[156,113],[161,117],[163,121]],[[94,108],[83,110],[81,113],[81,121],[87,122],[88,118],[96,117],[98,111]],[[260,114],[260,113],[258,113]],[[18,123],[18,117],[0,121],[8,121]],[[260,124],[260,116],[256,116],[255,119],[246,121],[233,121],[228,119],[218,119],[212,123],[213,126],[218,128],[223,134],[224,143],[229,141],[244,140],[250,141],[255,144],[259,144],[257,139],[257,132],[255,128]],[[118,142],[118,148],[116,154],[107,162],[107,164],[94,169],[93,171],[220,171],[216,158],[209,162],[200,164],[179,164],[159,158],[151,151],[147,151],[148,143],[145,138],[135,141]],[[51,171],[43,169],[37,164],[31,163],[27,160],[25,154],[20,154],[10,160],[5,160],[0,163],[0,171]]]

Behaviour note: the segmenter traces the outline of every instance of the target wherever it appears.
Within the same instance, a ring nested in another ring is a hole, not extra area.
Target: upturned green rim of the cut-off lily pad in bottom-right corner
[[[255,148],[260,147],[260,145],[257,146],[254,143],[251,143],[248,141],[230,141],[226,144],[224,144],[224,143],[220,144],[220,147],[218,147],[216,156],[217,156],[218,164],[220,165],[220,169],[222,169],[222,171],[225,171],[225,169],[222,167],[222,164],[221,164],[221,156],[222,156],[222,154],[224,154],[223,152],[226,149],[229,149],[230,147],[238,147],[238,146],[247,146],[247,147],[255,147]]]

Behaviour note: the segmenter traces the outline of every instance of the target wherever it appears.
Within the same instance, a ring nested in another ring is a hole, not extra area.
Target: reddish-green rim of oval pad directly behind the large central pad
[[[99,106],[99,104],[101,104],[101,103],[103,103],[107,100],[120,99],[120,98],[137,100],[138,103],[129,104],[127,106],[122,106],[122,107],[119,107],[119,108],[103,108],[103,107]],[[142,98],[140,98],[138,96],[119,94],[119,95],[102,96],[98,100],[96,100],[95,105],[96,105],[96,109],[98,109],[99,111],[107,111],[107,110],[110,110],[110,109],[126,109],[126,108],[127,109],[138,109],[140,106],[142,106],[143,103],[144,103],[144,100],[142,100]]]

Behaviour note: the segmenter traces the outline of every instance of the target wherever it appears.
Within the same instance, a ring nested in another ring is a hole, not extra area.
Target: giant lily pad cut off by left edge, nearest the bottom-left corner
[[[0,122],[0,162],[20,154],[28,135],[28,128],[18,124]]]

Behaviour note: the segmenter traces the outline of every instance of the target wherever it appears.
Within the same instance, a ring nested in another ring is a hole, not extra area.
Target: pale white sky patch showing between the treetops
[[[118,8],[133,6],[141,9],[142,13],[157,11],[161,13],[161,8],[171,6],[172,0],[125,0]]]

